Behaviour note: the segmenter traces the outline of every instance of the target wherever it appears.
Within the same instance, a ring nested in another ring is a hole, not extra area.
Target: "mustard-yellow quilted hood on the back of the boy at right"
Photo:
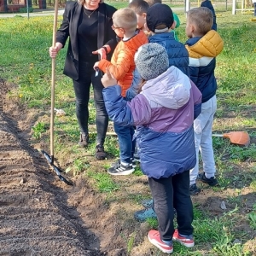
[[[216,57],[224,48],[224,42],[218,32],[210,30],[201,38],[190,38],[186,42],[189,57],[201,58],[202,56]]]

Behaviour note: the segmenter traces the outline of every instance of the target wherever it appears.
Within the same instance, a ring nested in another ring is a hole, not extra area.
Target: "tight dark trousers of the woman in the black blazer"
[[[102,73],[99,72],[98,76],[95,76],[94,62],[82,62],[79,64],[79,80],[73,80],[73,89],[76,96],[76,114],[80,131],[88,133],[88,103],[90,99],[90,84],[92,84],[96,107],[96,143],[103,145],[108,130],[108,113],[102,95]]]

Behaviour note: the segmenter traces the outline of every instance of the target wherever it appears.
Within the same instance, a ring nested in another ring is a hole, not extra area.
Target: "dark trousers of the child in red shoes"
[[[193,206],[189,195],[189,171],[172,177],[155,179],[148,177],[149,187],[154,199],[160,238],[171,241],[174,233],[173,208],[177,212],[177,230],[179,234],[193,234]]]

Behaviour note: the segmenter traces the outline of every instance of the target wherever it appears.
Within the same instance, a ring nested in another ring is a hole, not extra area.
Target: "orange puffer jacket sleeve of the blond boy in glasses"
[[[131,61],[133,60],[133,56],[131,51],[129,50],[120,50],[118,59],[116,61],[116,64],[112,64],[110,61],[107,60],[101,60],[99,61],[99,68],[106,73],[106,69],[108,67],[110,73],[113,74],[114,78],[119,80],[122,79],[126,73],[129,72],[129,69],[131,67]]]

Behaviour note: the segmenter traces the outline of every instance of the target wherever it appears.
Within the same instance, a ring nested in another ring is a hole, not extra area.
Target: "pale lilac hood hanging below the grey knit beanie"
[[[190,80],[177,67],[169,67],[155,79],[148,80],[141,92],[150,102],[165,108],[182,108],[190,97]]]

